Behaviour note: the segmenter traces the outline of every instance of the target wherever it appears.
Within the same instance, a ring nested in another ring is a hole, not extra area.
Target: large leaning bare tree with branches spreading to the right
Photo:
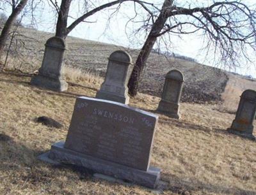
[[[148,10],[148,18],[140,29],[149,31],[147,40],[140,50],[128,84],[131,96],[136,96],[138,92],[141,72],[157,38],[166,34],[172,41],[173,35],[200,32],[207,38],[206,52],[211,52],[213,47],[212,55],[219,55],[220,61],[227,66],[236,66],[241,55],[250,60],[246,53],[248,47],[255,52],[255,8],[253,10],[242,1],[212,1],[209,6],[195,7],[188,2],[187,6],[177,3],[179,1],[164,0],[158,14]]]

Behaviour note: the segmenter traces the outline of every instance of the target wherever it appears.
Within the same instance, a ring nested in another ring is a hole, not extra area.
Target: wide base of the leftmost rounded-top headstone
[[[36,75],[31,78],[31,85],[43,87],[45,89],[64,91],[68,89],[68,83],[59,78],[51,78],[43,75]]]

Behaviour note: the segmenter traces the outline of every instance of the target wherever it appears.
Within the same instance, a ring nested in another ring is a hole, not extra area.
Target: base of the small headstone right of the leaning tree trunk
[[[164,101],[163,99],[159,102],[157,111],[164,112],[168,117],[173,119],[180,119],[179,104]]]

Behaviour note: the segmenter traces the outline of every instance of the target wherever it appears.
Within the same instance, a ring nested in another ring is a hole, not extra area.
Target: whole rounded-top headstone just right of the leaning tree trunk
[[[168,116],[179,119],[179,101],[184,83],[184,76],[180,71],[173,69],[165,76],[162,99],[157,110]]]

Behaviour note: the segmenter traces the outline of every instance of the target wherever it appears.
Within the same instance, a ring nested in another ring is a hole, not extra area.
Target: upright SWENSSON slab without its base
[[[147,171],[157,119],[122,103],[77,98],[65,148]]]

